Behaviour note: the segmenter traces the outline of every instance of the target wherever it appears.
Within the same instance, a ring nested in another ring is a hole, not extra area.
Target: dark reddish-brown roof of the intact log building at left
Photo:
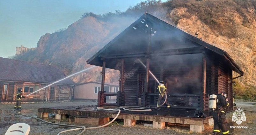
[[[0,81],[21,81],[51,84],[66,75],[52,65],[19,61],[0,57]],[[75,85],[70,78],[56,84]]]

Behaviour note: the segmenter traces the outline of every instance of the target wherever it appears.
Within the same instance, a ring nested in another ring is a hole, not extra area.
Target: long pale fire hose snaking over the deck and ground
[[[159,108],[159,107],[163,106],[165,104],[166,100],[167,100],[167,94],[166,93],[165,93],[165,97],[166,98],[165,98],[165,101],[163,102],[163,104],[161,104],[160,106],[157,106],[157,107],[141,107],[141,106],[120,106],[120,107],[119,106],[101,106],[101,107],[97,107],[97,109],[99,109],[99,110],[118,111],[118,113],[117,113],[117,115],[115,116],[115,118],[113,120],[111,120],[109,123],[107,123],[105,125],[101,125],[101,126],[97,126],[97,127],[87,127],[87,128],[85,126],[80,126],[80,125],[66,125],[66,124],[52,123],[52,122],[48,122],[48,121],[43,120],[43,119],[39,119],[39,118],[34,117],[34,116],[29,116],[29,115],[13,112],[17,109],[15,109],[11,112],[15,113],[15,114],[23,115],[25,117],[31,117],[31,118],[43,121],[43,122],[48,123],[48,124],[67,126],[67,127],[78,127],[78,128],[75,128],[75,129],[69,129],[69,130],[61,131],[57,135],[60,135],[61,133],[69,132],[69,131],[83,130],[82,132],[77,134],[77,135],[81,135],[82,133],[85,132],[85,129],[96,129],[96,128],[105,127],[105,126],[111,124],[119,116],[119,114],[121,112],[121,109],[126,110],[126,111],[133,111],[133,112],[146,112],[146,111],[152,111],[151,109]],[[112,108],[112,109],[109,109],[109,108]],[[113,109],[113,108],[120,108],[120,109]],[[137,110],[133,110],[133,109],[137,109]]]

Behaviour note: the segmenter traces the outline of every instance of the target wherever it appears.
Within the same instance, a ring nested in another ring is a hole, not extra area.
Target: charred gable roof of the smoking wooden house
[[[144,24],[146,23],[146,24]],[[145,27],[146,25],[146,27]],[[96,65],[102,67],[102,56],[104,55],[113,55],[116,53],[119,53],[118,55],[122,54],[128,54],[129,56],[133,57],[133,55],[139,56],[139,57],[145,57],[146,54],[143,52],[147,48],[147,44],[141,43],[142,40],[145,39],[140,39],[142,36],[148,34],[147,29],[148,26],[152,26],[151,31],[153,30],[155,33],[155,38],[160,38],[161,34],[157,35],[157,33],[175,33],[175,35],[181,36],[185,38],[186,40],[189,40],[193,43],[195,43],[197,46],[202,46],[205,48],[205,50],[210,51],[214,53],[215,55],[220,56],[225,60],[231,67],[231,69],[235,72],[237,72],[240,75],[244,75],[244,72],[241,70],[240,67],[235,63],[235,61],[230,57],[230,55],[225,52],[224,50],[217,48],[213,45],[210,45],[207,42],[204,42],[193,35],[190,35],[181,29],[178,29],[160,19],[158,19],[155,16],[152,16],[148,13],[143,14],[138,20],[133,22],[127,29],[121,32],[118,36],[116,36],[112,41],[110,41],[106,46],[104,46],[102,49],[100,49],[95,55],[93,55],[90,59],[88,59],[87,63],[91,65]],[[155,31],[155,29],[157,29]],[[136,32],[134,32],[136,30]],[[153,32],[152,31],[152,32]],[[154,34],[154,33],[152,33]],[[148,34],[149,35],[149,34]],[[126,41],[134,41],[133,43],[129,42],[129,44],[125,44]],[[119,44],[123,44],[120,46]],[[139,44],[139,46],[138,46]],[[114,51],[116,50],[116,51]],[[133,53],[128,53],[128,50],[132,50]],[[134,57],[136,57],[134,56]],[[113,56],[112,58],[114,58]],[[107,64],[106,62],[106,67],[107,68],[112,68],[111,65],[114,65],[114,61],[108,61],[111,64]]]

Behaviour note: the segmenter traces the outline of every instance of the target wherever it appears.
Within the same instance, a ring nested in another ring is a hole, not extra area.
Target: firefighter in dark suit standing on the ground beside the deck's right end
[[[213,112],[213,134],[220,134],[220,130],[223,135],[229,134],[228,123],[226,119],[225,107],[229,106],[228,99],[224,96],[224,92],[217,95],[216,98],[216,110]]]

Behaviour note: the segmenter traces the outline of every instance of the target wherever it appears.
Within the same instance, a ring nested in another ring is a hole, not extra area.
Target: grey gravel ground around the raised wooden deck
[[[237,103],[238,105],[240,103]],[[50,107],[50,106],[79,106],[79,105],[97,105],[97,102],[93,101],[75,101],[75,102],[57,102],[57,103],[24,103],[22,104],[22,114],[36,116],[38,112],[38,107]],[[241,104],[242,105],[242,104]],[[26,123],[31,126],[31,130],[29,135],[53,135],[58,132],[73,129],[71,127],[63,127],[58,125],[50,125],[40,120],[33,119],[31,117],[25,117],[22,115],[17,115],[15,113],[11,113],[14,104],[0,104],[0,134],[4,134],[7,129],[15,123]],[[256,107],[243,107],[244,110],[256,111]],[[246,115],[246,122],[242,122],[241,125],[247,125],[247,129],[230,129],[232,134],[247,134],[251,135],[256,133],[256,112],[248,112],[244,111]],[[231,118],[228,119],[230,125],[237,125],[236,123],[231,121]],[[69,123],[68,120],[55,121],[55,119],[48,119],[51,122],[58,122],[61,124],[69,124],[73,125],[73,123]],[[143,126],[143,125],[135,125],[132,127],[125,127],[123,125],[119,125],[121,123],[116,122],[110,127],[104,127],[99,129],[88,129],[83,134],[90,135],[130,135],[130,134],[140,134],[140,135],[152,135],[152,134],[162,134],[162,135],[183,135],[183,134],[191,134],[197,135],[198,133],[189,132],[189,127],[187,126],[171,126],[168,125],[165,129],[154,129],[152,127]],[[92,127],[93,125],[84,125],[85,127]],[[213,126],[205,126],[204,132],[201,134],[212,134]],[[80,133],[79,131],[72,131],[63,133],[62,135],[73,135]]]

